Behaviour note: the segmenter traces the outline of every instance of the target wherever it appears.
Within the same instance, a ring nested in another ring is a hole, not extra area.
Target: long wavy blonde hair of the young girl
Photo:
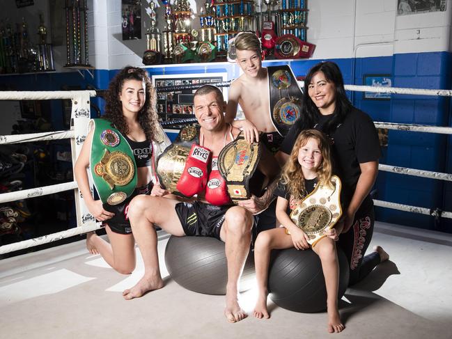
[[[281,181],[283,184],[286,184],[290,195],[295,199],[301,199],[306,196],[302,166],[298,162],[298,152],[300,148],[306,145],[310,138],[318,141],[318,146],[323,157],[322,164],[316,170],[318,184],[330,185],[332,161],[327,138],[325,134],[317,129],[305,129],[298,135],[290,157],[281,171]]]

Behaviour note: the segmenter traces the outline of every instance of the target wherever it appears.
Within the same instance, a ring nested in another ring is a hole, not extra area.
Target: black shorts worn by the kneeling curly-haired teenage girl
[[[132,228],[130,227],[130,221],[127,217],[127,210],[130,204],[130,201],[135,196],[138,196],[139,194],[146,194],[147,196],[150,195],[150,191],[153,189],[153,183],[149,182],[143,187],[136,187],[132,193],[132,195],[125,199],[123,203],[120,203],[119,205],[109,205],[109,204],[103,204],[102,207],[104,207],[104,210],[108,212],[113,212],[115,215],[108,219],[107,221],[104,221],[104,224],[107,224],[110,226],[111,230],[115,233],[127,235],[132,233]]]

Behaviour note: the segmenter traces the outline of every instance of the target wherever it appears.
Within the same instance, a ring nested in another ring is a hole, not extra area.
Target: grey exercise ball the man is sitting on
[[[224,242],[212,237],[174,237],[166,244],[165,264],[171,278],[187,290],[226,294],[228,270]],[[248,255],[239,292],[254,285],[254,256]]]

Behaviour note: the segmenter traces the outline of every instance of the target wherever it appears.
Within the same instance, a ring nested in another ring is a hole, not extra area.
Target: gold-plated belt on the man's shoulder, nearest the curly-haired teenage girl
[[[157,158],[157,177],[160,186],[171,193],[179,194],[176,184],[185,168],[185,161],[193,143],[199,142],[199,129],[187,125],[180,129],[176,140]]]

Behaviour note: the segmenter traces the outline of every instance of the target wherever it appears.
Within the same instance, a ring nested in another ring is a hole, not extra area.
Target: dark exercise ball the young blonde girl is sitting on
[[[350,276],[348,260],[338,247],[339,289],[341,299]],[[276,305],[301,313],[315,313],[327,308],[327,290],[322,264],[311,249],[272,251],[268,274],[270,299]]]

